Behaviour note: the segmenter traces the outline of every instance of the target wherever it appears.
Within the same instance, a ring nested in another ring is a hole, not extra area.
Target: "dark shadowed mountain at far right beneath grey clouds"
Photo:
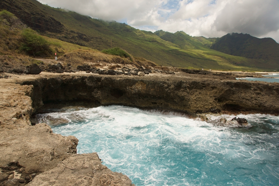
[[[272,38],[260,39],[249,34],[232,33],[216,39],[210,48],[233,56],[260,60],[269,67],[278,68],[279,65],[279,44]]]

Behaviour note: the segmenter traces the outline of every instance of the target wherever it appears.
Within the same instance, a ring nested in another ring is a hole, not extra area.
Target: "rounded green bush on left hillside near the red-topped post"
[[[23,44],[20,47],[31,56],[48,55],[52,53],[49,43],[42,36],[38,35],[30,28],[26,28],[22,32]]]

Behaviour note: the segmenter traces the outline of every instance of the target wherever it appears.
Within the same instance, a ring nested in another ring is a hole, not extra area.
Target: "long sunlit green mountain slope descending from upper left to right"
[[[12,12],[41,35],[99,51],[120,47],[135,57],[146,58],[158,65],[235,70],[268,70],[276,65],[279,68],[278,64],[269,66],[258,59],[232,56],[210,49],[214,39],[203,38],[203,41],[181,31],[141,31],[127,24],[106,22],[52,8],[36,0],[1,0],[0,9]]]

